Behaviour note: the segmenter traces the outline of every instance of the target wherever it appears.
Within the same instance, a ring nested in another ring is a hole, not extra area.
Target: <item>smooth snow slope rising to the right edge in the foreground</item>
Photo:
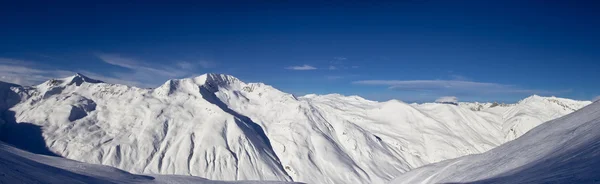
[[[600,102],[488,152],[427,165],[392,183],[454,182],[600,182]]]

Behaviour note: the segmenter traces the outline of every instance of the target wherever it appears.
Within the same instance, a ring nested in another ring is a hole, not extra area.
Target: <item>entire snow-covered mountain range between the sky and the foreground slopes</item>
[[[34,87],[4,83],[0,99],[0,138],[32,152],[133,173],[307,183],[384,183],[425,164],[487,151],[590,103],[539,96],[458,106],[295,97],[220,74],[155,89],[78,74]]]

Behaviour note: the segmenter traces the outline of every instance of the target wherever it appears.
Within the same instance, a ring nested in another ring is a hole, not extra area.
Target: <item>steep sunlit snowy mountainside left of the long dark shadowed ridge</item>
[[[41,126],[52,152],[87,163],[134,173],[291,180],[260,127],[202,95],[220,78],[171,80],[156,90],[86,79],[16,88],[30,97],[8,112],[16,119],[3,136],[19,139],[22,124],[30,123]]]

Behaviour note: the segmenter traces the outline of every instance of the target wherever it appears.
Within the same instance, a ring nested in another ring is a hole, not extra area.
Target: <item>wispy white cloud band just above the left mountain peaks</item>
[[[72,76],[82,73],[90,78],[107,83],[125,84],[136,87],[156,87],[168,79],[184,78],[197,75],[200,68],[215,67],[208,61],[177,62],[172,66],[163,66],[143,62],[119,54],[100,53],[96,56],[103,62],[124,68],[127,71],[113,71],[106,74],[86,70],[63,70],[40,62],[24,61],[11,58],[0,58],[0,81],[24,86],[37,85],[49,79]],[[54,67],[54,68],[53,68]]]

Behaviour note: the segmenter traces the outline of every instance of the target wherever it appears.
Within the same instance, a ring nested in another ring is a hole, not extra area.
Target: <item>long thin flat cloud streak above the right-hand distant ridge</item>
[[[428,91],[444,94],[473,93],[517,93],[517,94],[556,94],[564,91],[524,89],[514,85],[474,82],[464,80],[361,80],[353,84],[388,86],[389,89],[402,91]]]

